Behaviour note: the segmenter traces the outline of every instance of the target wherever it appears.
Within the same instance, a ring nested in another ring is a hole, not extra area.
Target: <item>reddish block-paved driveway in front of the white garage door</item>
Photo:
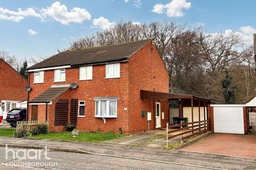
[[[213,133],[179,150],[256,159],[256,134]]]

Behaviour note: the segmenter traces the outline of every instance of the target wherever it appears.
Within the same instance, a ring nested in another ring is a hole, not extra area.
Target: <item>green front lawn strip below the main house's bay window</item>
[[[76,141],[76,142],[101,142],[105,140],[111,140],[115,138],[124,137],[124,134],[115,134],[113,132],[80,132],[76,138],[72,137],[71,132],[58,132],[34,135],[31,138],[34,139],[51,139],[51,140],[63,140],[63,141]]]

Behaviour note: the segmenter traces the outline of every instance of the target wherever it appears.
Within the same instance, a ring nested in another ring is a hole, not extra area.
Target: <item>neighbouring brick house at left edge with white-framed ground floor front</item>
[[[16,107],[27,107],[27,80],[12,66],[0,59],[0,101],[3,119],[7,112]]]

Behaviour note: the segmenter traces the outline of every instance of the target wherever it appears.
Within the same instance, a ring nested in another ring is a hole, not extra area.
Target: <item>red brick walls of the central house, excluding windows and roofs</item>
[[[33,84],[34,73],[30,73],[30,97],[34,99],[53,84],[77,83],[78,88],[69,89],[58,99],[78,99],[85,101],[85,117],[77,118],[77,129],[81,131],[113,131],[132,133],[148,130],[147,115],[142,116],[141,111],[151,112],[150,130],[154,130],[154,101],[141,100],[140,90],[155,90],[169,92],[169,74],[164,66],[161,56],[155,45],[148,43],[137,53],[133,54],[128,62],[120,64],[120,77],[106,79],[105,64],[93,65],[93,80],[78,81],[79,67],[66,69],[66,82],[53,82],[54,70],[44,71],[44,83]],[[94,117],[94,97],[119,97],[117,100],[117,118]],[[63,126],[54,126],[55,101],[47,107],[47,120],[51,131],[62,131]],[[169,102],[155,99],[161,102],[161,113],[164,112],[164,119],[161,115],[161,125],[164,128],[169,122]],[[45,105],[38,105],[38,120],[45,120]],[[127,108],[127,109],[124,109]],[[29,118],[31,117],[31,105],[29,106]],[[70,118],[70,115],[68,115]],[[69,122],[69,121],[68,121]]]

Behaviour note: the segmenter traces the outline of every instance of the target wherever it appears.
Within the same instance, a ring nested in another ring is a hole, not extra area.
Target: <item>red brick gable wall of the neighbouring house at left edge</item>
[[[24,101],[27,99],[27,81],[9,64],[0,59],[0,101]]]

